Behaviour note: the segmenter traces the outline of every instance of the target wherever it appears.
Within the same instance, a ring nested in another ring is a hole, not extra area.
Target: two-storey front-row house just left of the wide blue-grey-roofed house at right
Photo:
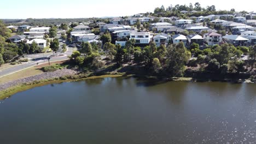
[[[203,34],[203,40],[208,45],[219,45],[222,42],[222,35],[215,32],[206,33]]]

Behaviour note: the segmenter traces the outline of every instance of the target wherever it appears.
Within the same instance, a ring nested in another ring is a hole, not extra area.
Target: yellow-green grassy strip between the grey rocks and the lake
[[[34,81],[31,83],[24,83],[22,85],[18,85],[15,87],[10,87],[7,89],[4,89],[0,92],[0,100],[10,97],[10,95],[13,95],[18,92],[26,91],[27,89],[31,89],[34,87],[40,87],[49,85],[51,83],[61,83],[61,82],[72,82],[72,81],[79,81],[79,80],[87,80],[87,79],[98,79],[98,78],[105,78],[105,77],[120,77],[123,75],[101,75],[101,76],[88,76],[83,78],[71,78],[71,76],[66,76],[65,78],[60,77],[60,79],[49,79],[49,80],[41,80],[41,81]]]

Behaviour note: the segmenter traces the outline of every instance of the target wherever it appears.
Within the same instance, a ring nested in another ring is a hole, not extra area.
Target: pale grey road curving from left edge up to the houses
[[[53,57],[53,53],[51,53],[51,52],[50,53],[37,53],[37,54],[33,54],[33,55],[25,55],[25,58],[30,59],[29,62],[19,64],[14,67],[11,67],[11,68],[6,68],[6,69],[0,70],[0,77],[16,73],[16,72],[26,69],[26,68],[36,66],[37,64],[46,63],[46,62],[48,62],[48,59],[47,59],[48,57],[50,57],[50,62],[62,61],[62,60],[68,59],[68,56],[72,55],[73,48],[67,47],[67,49],[68,49],[67,52],[62,53],[61,46],[63,45],[63,43],[62,43],[62,40],[60,39],[60,37],[61,37],[61,34],[58,33],[57,38],[60,41],[60,47],[59,47],[59,51],[57,52],[57,54],[61,55],[61,56]]]

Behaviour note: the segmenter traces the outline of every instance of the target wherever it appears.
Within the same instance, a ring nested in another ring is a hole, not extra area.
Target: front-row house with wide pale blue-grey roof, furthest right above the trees
[[[249,40],[249,39],[243,38],[239,35],[225,35],[222,38],[226,43],[233,44],[235,46],[238,46],[238,45],[247,46],[247,42]]]

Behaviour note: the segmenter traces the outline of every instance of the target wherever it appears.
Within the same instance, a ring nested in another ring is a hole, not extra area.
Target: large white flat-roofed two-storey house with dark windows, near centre
[[[135,39],[135,44],[149,44],[151,35],[149,32],[132,32],[130,33],[130,40]]]

